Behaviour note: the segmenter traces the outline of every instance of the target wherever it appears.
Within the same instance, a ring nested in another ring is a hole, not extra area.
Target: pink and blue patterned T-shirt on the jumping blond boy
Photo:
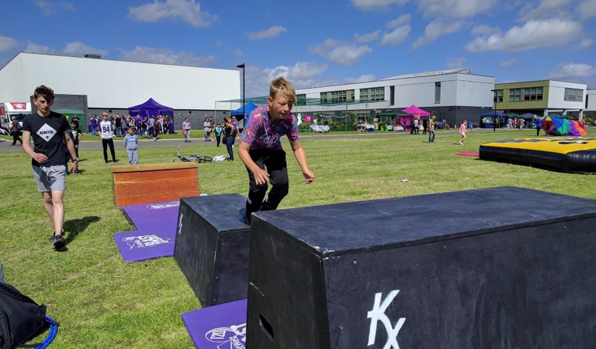
[[[292,142],[298,141],[298,124],[294,114],[285,119],[273,120],[262,105],[250,113],[249,122],[244,125],[241,142],[248,143],[251,149],[282,149],[281,136],[287,135]]]

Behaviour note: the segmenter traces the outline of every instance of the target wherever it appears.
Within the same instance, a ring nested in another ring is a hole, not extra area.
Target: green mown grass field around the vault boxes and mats
[[[316,180],[304,183],[285,144],[290,194],[280,208],[493,186],[596,199],[596,177],[591,175],[455,155],[477,151],[484,142],[534,134],[533,130],[472,131],[463,147],[457,144],[457,134],[445,132],[437,133],[434,144],[428,144],[426,136],[409,135],[305,138],[302,144]],[[595,136],[596,130],[590,129],[589,135]],[[140,145],[143,164],[170,163],[175,154],[173,147],[143,149]],[[192,149],[198,154],[226,154],[225,148],[214,153],[215,148],[206,145]],[[117,157],[126,159],[126,152],[117,151]],[[201,304],[184,275],[173,258],[122,260],[112,235],[132,226],[114,206],[109,167],[101,151],[81,151],[80,158],[83,173],[68,177],[64,199],[68,250],[57,253],[48,240],[52,227],[36,191],[29,158],[24,152],[0,152],[0,261],[6,281],[46,304],[48,315],[60,323],[51,348],[194,348],[180,315]],[[404,178],[409,182],[400,182]],[[198,181],[201,192],[209,195],[247,193],[241,161],[200,164]],[[511,202],[507,209],[524,210],[515,205]],[[414,214],[424,217],[424,211]],[[33,342],[41,342],[40,338]]]

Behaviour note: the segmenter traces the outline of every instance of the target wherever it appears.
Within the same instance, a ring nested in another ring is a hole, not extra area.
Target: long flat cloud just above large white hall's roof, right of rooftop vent
[[[202,67],[217,60],[214,55],[195,56],[193,52],[174,52],[169,48],[151,48],[136,46],[132,51],[122,51],[125,60],[136,62],[180,64],[182,66]]]

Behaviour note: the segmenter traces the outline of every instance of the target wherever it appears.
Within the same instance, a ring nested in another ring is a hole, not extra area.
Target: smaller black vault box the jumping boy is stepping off
[[[203,306],[246,298],[250,226],[240,194],[182,198],[174,259]]]

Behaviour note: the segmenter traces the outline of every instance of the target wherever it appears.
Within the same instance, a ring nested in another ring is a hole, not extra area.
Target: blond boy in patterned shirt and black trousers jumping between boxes
[[[267,105],[250,113],[240,138],[238,156],[249,173],[249,198],[246,201],[244,222],[250,225],[250,214],[256,211],[275,210],[288,194],[288,169],[285,152],[281,147],[281,136],[286,135],[294,157],[306,179],[312,183],[315,175],[308,168],[306,155],[298,139],[298,124],[291,114],[296,102],[294,86],[283,77],[271,82]],[[265,199],[267,180],[271,191]]]

